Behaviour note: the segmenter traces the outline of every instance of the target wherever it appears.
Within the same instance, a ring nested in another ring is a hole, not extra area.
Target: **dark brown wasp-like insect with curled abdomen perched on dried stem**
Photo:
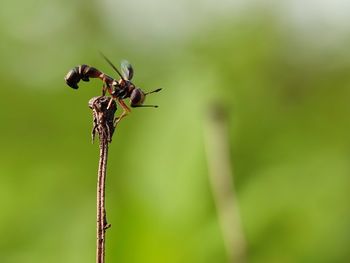
[[[127,116],[128,113],[131,112],[129,107],[125,104],[124,99],[130,99],[130,106],[132,108],[136,107],[154,107],[157,108],[157,105],[144,105],[144,101],[147,95],[155,92],[159,92],[161,89],[156,89],[150,92],[144,92],[139,87],[136,87],[132,82],[132,78],[134,76],[134,69],[131,64],[124,60],[121,63],[121,72],[113,65],[113,63],[101,53],[102,57],[107,61],[107,63],[118,73],[120,76],[119,80],[116,80],[102,71],[90,67],[88,65],[79,65],[71,69],[67,75],[64,77],[66,84],[73,88],[78,89],[78,83],[80,80],[89,81],[90,78],[99,78],[103,82],[102,86],[102,96],[108,92],[111,97],[118,102],[118,104],[122,107],[122,114],[115,119],[115,125]],[[111,105],[112,100],[108,105]]]

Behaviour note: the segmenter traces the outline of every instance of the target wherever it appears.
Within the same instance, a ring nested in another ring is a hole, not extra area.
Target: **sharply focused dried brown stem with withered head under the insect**
[[[106,229],[110,227],[106,218],[105,183],[107,174],[108,143],[112,141],[114,133],[114,113],[117,110],[114,101],[110,103],[108,97],[94,97],[89,101],[93,111],[92,139],[96,132],[100,141],[100,160],[97,174],[97,243],[96,263],[105,262]]]

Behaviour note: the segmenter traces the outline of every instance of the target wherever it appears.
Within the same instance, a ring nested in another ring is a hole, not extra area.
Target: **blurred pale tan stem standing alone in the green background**
[[[246,261],[246,241],[233,183],[227,120],[227,112],[222,106],[212,104],[209,107],[204,127],[206,154],[228,262],[243,263]]]

